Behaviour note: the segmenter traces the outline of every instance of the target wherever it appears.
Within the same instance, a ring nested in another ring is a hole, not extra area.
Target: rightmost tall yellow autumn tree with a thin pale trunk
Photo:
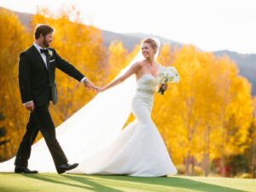
[[[247,79],[238,75],[233,61],[224,57],[219,60],[218,82],[219,131],[216,151],[220,157],[221,174],[225,175],[225,158],[231,154],[241,154],[246,147],[247,130],[252,122],[253,102],[251,85]]]

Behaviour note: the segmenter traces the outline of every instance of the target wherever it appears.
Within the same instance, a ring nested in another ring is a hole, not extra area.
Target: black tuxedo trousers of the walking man
[[[30,113],[26,125],[26,133],[22,138],[20,147],[16,154],[15,166],[27,166],[31,154],[32,143],[41,131],[44,140],[49,148],[49,152],[55,162],[55,166],[67,163],[67,157],[64,154],[61,145],[55,137],[55,125],[49,113],[49,106],[36,107]]]

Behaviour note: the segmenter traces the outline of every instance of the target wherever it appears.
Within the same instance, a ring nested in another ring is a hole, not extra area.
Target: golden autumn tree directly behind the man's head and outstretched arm
[[[71,21],[70,18],[73,17]],[[108,66],[106,50],[102,44],[102,32],[94,26],[84,26],[76,9],[63,9],[58,15],[47,9],[39,9],[33,17],[32,28],[45,23],[55,29],[52,47],[62,58],[73,64],[96,85],[106,82]],[[71,114],[89,102],[95,94],[86,92],[83,84],[56,70],[59,102],[52,111],[55,124],[60,124]]]

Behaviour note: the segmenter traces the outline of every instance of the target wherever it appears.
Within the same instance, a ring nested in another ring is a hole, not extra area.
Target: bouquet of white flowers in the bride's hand
[[[175,67],[160,67],[159,77],[161,86],[157,92],[161,95],[164,95],[165,92],[165,90],[163,89],[164,84],[179,82],[179,75]]]

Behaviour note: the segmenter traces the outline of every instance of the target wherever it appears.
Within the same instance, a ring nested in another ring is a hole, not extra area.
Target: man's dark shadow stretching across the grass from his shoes
[[[123,192],[122,190],[109,188],[102,184],[92,182],[92,181],[90,181],[90,178],[86,178],[86,177],[77,177],[76,179],[73,179],[72,176],[67,177],[65,175],[61,175],[62,177],[66,177],[67,179],[72,178],[71,180],[82,183],[82,184],[75,184],[75,183],[67,183],[67,182],[63,181],[61,177],[54,176],[54,175],[52,175],[52,176],[51,175],[40,175],[40,174],[22,174],[22,175],[25,177],[38,179],[38,180],[41,180],[44,182],[57,183],[57,184],[67,185],[69,187],[75,187],[75,188],[81,188],[81,189],[89,189],[91,191]]]

